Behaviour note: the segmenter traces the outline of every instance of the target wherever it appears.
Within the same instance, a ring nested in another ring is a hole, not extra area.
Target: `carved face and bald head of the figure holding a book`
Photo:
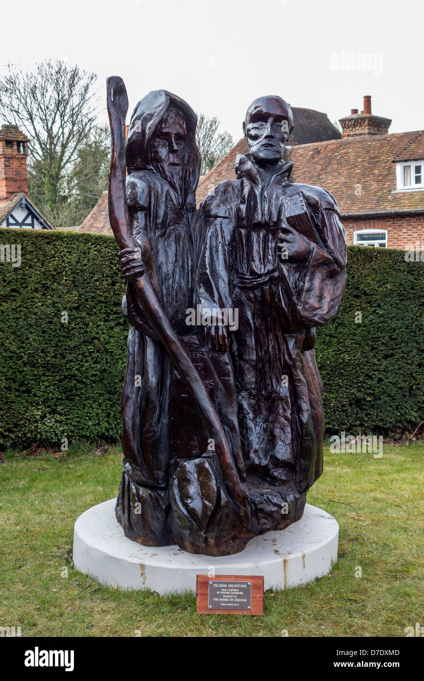
[[[250,104],[243,132],[258,163],[282,159],[284,144],[293,129],[291,108],[281,97],[260,97]]]

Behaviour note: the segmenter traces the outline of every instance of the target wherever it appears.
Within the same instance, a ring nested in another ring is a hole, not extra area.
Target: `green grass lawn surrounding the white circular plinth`
[[[22,636],[404,636],[424,624],[423,462],[423,443],[385,445],[381,459],[327,449],[308,502],[340,524],[337,565],[306,586],[266,592],[263,617],[242,617],[197,615],[194,595],[99,586],[72,567],[76,518],[116,496],[118,447],[74,447],[63,460],[7,453],[0,625]]]

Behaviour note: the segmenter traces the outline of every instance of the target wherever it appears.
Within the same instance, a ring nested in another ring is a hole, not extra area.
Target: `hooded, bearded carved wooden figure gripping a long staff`
[[[139,101],[127,136],[127,203],[142,264],[174,330],[189,336],[186,308],[193,295],[197,249],[192,234],[200,155],[197,116],[165,90]],[[125,259],[120,256],[121,265]],[[131,263],[130,263],[131,265]],[[172,361],[145,317],[131,278],[123,313],[131,324],[122,396],[123,475],[116,518],[125,534],[146,545],[172,543],[169,447]]]

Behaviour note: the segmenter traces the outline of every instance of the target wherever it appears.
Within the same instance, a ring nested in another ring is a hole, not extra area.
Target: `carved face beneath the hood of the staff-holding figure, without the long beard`
[[[182,113],[169,108],[154,132],[150,158],[154,165],[184,165],[186,161],[187,131]]]

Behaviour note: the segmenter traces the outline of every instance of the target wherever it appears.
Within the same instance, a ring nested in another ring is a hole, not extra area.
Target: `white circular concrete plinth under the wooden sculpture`
[[[101,584],[159,594],[196,590],[196,575],[263,575],[265,589],[288,588],[326,575],[336,563],[338,522],[306,504],[285,530],[251,539],[232,556],[189,554],[178,546],[142,546],[127,539],[115,518],[115,499],[93,506],[74,528],[74,565]],[[214,570],[214,572],[212,572]]]

